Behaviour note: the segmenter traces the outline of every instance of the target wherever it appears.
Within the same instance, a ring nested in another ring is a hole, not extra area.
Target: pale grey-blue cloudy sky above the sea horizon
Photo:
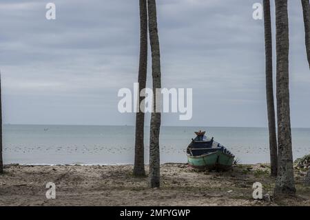
[[[45,18],[49,2],[55,20]],[[256,2],[157,0],[162,87],[193,89],[192,119],[165,113],[163,126],[267,126],[264,26],[252,17]],[[273,4],[271,14],[274,55]],[[300,1],[289,0],[289,25],[291,123],[309,128]],[[118,112],[117,94],[138,78],[138,0],[1,0],[0,27],[4,123],[134,125],[134,113]]]

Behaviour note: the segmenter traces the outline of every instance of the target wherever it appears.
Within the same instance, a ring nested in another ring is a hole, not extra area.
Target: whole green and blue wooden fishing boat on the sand
[[[195,132],[197,137],[192,139],[187,147],[187,161],[190,168],[195,170],[230,170],[234,163],[234,154],[220,143],[205,136],[201,130]]]

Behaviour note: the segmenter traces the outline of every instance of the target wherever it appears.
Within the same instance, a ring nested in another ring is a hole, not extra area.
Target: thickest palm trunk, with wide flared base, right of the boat
[[[278,177],[275,195],[296,192],[289,109],[289,17],[287,0],[276,0]]]

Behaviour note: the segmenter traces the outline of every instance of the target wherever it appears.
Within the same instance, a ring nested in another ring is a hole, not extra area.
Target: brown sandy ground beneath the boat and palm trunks
[[[186,164],[161,166],[161,188],[147,188],[147,177],[132,166],[6,166],[0,175],[0,206],[310,206],[304,170],[296,170],[297,197],[274,201],[274,179],[266,164],[238,165],[230,172],[193,172]],[[252,199],[262,183],[271,201]],[[45,184],[56,184],[46,199]]]

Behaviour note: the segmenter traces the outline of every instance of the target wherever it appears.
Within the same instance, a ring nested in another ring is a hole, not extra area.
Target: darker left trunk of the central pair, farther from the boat
[[[147,79],[147,0],[140,0],[140,61],[138,72],[139,94]],[[139,106],[144,97],[138,95]],[[145,176],[144,168],[144,109],[136,113],[136,143],[134,149],[134,176]]]

